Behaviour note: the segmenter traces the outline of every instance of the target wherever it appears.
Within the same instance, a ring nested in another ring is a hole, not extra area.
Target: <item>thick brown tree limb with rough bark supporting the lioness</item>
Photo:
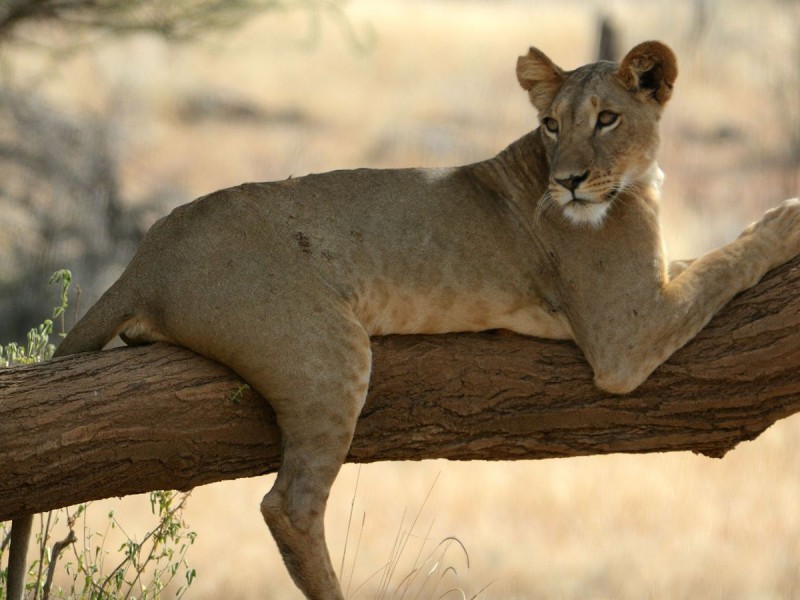
[[[611,396],[570,343],[511,334],[374,340],[350,459],[722,456],[800,411],[800,260],[738,296],[634,393]],[[0,520],[278,466],[266,402],[165,345],[0,371]]]

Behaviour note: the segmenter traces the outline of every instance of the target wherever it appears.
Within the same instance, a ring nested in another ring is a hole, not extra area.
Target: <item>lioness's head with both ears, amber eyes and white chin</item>
[[[568,219],[600,225],[620,193],[654,183],[658,122],[677,76],[669,48],[645,42],[620,65],[571,72],[531,48],[517,76],[539,111],[550,197]]]

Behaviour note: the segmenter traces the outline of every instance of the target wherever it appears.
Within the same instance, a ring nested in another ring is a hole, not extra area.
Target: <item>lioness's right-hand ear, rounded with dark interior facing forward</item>
[[[617,71],[617,78],[627,90],[662,106],[672,96],[677,77],[675,53],[661,42],[642,42],[628,52]]]

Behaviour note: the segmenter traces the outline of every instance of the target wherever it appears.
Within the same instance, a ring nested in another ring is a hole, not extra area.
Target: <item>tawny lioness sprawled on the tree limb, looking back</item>
[[[185,346],[241,375],[282,434],[264,519],[306,597],[341,599],[323,513],[366,398],[371,335],[505,328],[572,339],[597,386],[623,394],[800,253],[795,199],[668,267],[656,151],[677,73],[660,42],[574,71],[531,48],[517,77],[540,125],[494,158],[250,183],[177,208],[57,354],[119,334]],[[15,522],[14,565],[29,526]],[[21,577],[12,566],[14,600]]]

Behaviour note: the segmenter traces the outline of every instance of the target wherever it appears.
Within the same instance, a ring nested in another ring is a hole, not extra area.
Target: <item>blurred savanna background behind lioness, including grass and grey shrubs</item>
[[[174,0],[9,21],[24,4],[0,3],[0,343],[49,316],[52,271],[72,269],[83,312],[156,218],[214,189],[494,155],[537,125],[517,56],[577,67],[603,23],[618,58],[645,39],[679,58],[660,161],[674,258],[800,192],[797,0],[232,1],[211,21],[215,2]],[[795,417],[723,460],[346,466],[329,545],[351,598],[398,597],[430,552],[444,579],[418,598],[800,598],[799,450]],[[185,597],[299,597],[258,510],[271,482],[193,492]],[[147,498],[90,510],[96,529],[109,510],[131,536],[150,527]]]

